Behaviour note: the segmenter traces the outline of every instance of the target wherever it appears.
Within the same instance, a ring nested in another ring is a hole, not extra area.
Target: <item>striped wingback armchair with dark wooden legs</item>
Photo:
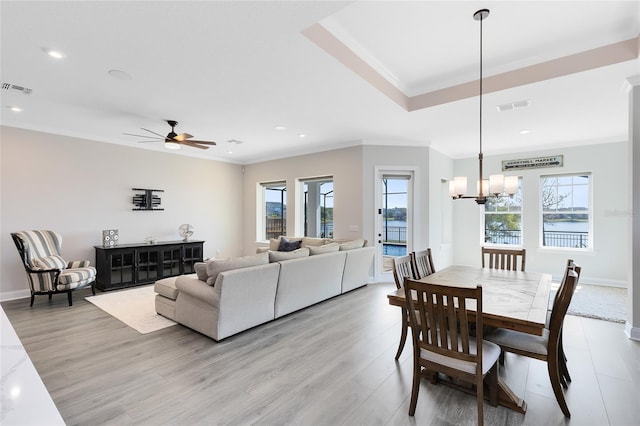
[[[54,231],[20,231],[11,234],[24,264],[31,304],[36,295],[48,294],[49,300],[56,293],[67,293],[69,306],[72,305],[71,292],[91,286],[96,294],[96,268],[89,266],[88,260],[66,262],[60,256],[62,236]]]

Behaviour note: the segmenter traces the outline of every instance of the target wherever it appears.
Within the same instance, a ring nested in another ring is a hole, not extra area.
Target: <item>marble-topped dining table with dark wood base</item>
[[[474,266],[452,265],[419,279],[430,284],[456,287],[482,286],[484,326],[506,328],[541,336],[545,328],[551,274],[511,271]],[[404,288],[387,295],[389,304],[406,308]],[[467,309],[473,310],[469,305]],[[501,379],[498,379],[498,404],[519,413],[527,404]]]

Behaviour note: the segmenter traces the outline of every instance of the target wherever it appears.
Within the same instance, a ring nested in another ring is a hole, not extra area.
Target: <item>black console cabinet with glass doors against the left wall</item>
[[[96,287],[114,290],[149,284],[166,277],[195,272],[202,262],[204,241],[123,244],[96,249]]]

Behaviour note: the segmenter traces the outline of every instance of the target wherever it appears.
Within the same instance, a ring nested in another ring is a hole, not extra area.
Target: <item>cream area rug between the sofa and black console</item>
[[[153,285],[148,285],[89,296],[85,299],[139,333],[147,334],[176,324],[156,314],[155,295]]]

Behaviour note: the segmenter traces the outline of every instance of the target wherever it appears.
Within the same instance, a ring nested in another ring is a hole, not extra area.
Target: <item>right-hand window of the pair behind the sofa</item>
[[[301,179],[304,236],[333,238],[333,178]]]

